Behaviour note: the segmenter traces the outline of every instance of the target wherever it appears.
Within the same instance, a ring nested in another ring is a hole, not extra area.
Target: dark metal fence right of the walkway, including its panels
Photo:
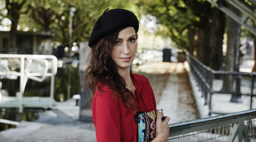
[[[255,72],[215,71],[191,55],[186,59],[209,106],[209,115],[256,108]]]

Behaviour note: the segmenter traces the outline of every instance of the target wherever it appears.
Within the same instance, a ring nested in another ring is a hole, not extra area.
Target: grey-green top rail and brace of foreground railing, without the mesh
[[[198,119],[193,121],[170,124],[169,137],[175,137],[175,136],[178,137],[179,135],[183,135],[181,137],[185,137],[185,136],[188,137],[188,135],[184,135],[184,134],[203,131],[207,129],[211,129],[213,131],[213,130],[216,130],[216,127],[231,124],[232,130],[230,131],[228,141],[234,142],[235,137],[238,136],[239,142],[242,141],[242,138],[244,138],[244,141],[248,142],[250,141],[250,138],[248,136],[247,129],[244,125],[244,121],[249,120],[250,122],[252,122],[254,121],[252,120],[254,118],[256,118],[256,109],[231,113],[227,115],[219,115],[219,116],[214,116],[209,118],[203,118],[203,119]],[[252,129],[254,129],[254,125]],[[211,133],[212,132],[210,132],[210,134]],[[207,139],[211,140],[213,138],[211,136],[210,138],[207,138]]]

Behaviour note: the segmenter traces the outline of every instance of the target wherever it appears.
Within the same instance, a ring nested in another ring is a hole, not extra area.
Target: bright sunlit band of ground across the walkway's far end
[[[138,66],[135,72],[151,74],[183,73],[185,67],[184,63],[154,62]]]

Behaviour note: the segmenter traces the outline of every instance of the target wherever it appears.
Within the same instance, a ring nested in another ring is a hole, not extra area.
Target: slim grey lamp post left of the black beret
[[[72,20],[74,16],[74,11],[76,9],[74,7],[70,8],[70,16],[69,16],[69,60],[71,60],[71,48],[72,48]],[[68,66],[68,86],[67,86],[67,99],[70,98],[70,90],[71,90],[71,66]]]

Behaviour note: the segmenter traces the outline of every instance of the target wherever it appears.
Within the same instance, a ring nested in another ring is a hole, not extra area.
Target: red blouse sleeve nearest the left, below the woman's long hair
[[[97,142],[121,142],[120,111],[111,89],[95,92],[92,113]]]

